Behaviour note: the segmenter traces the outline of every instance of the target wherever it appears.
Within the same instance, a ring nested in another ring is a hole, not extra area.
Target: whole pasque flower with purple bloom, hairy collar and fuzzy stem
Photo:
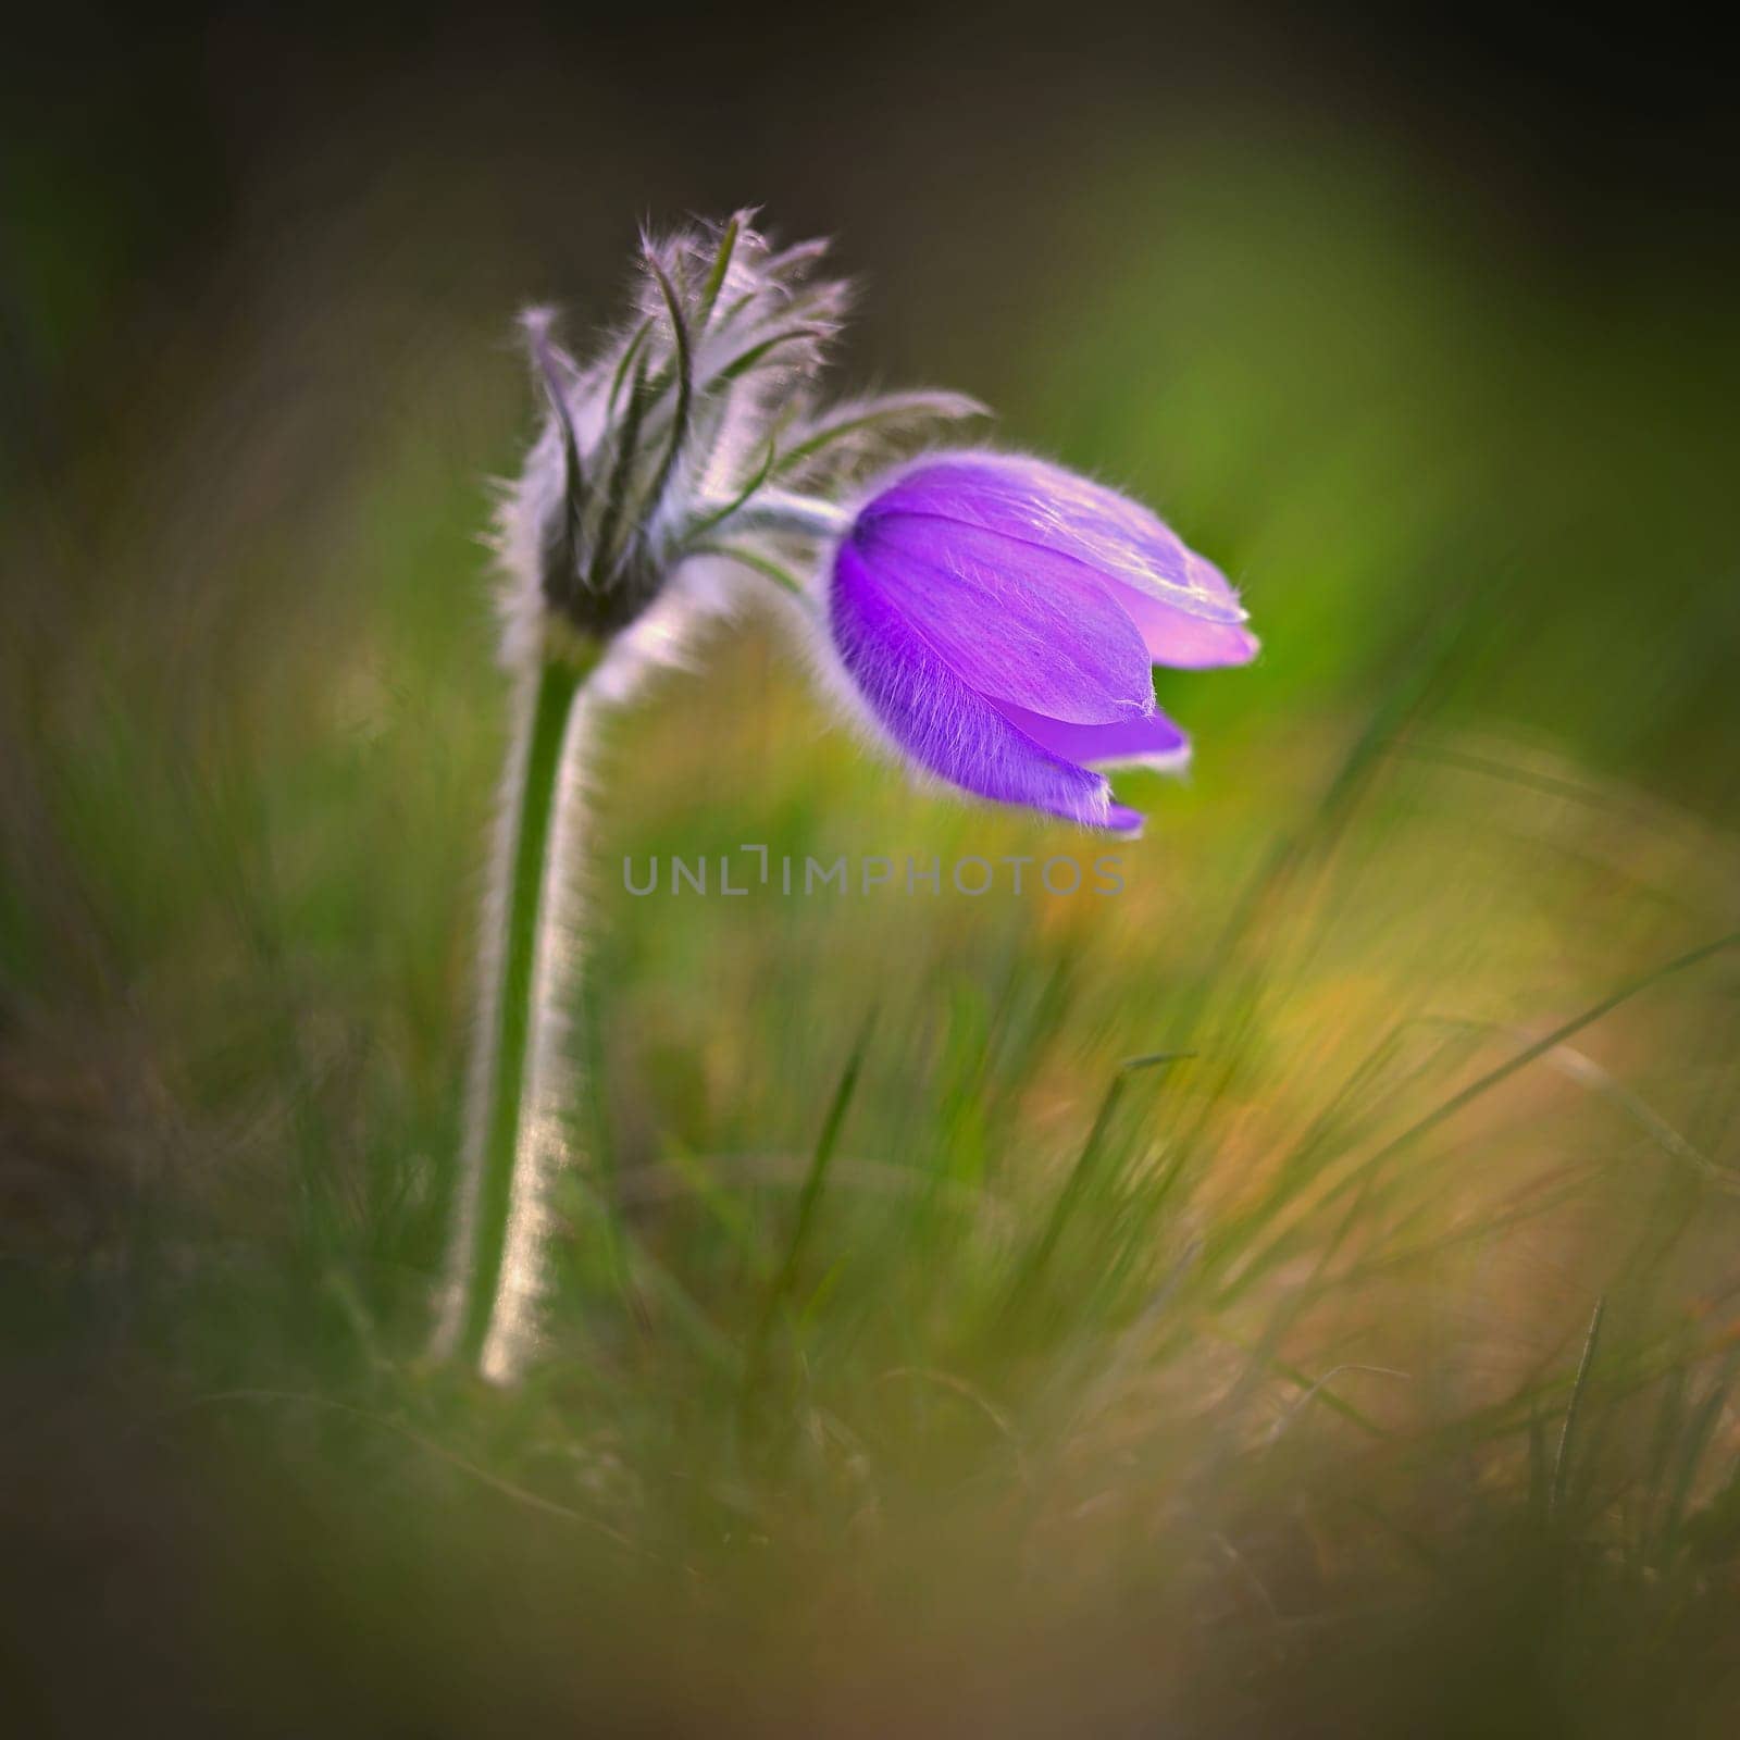
[[[1126,833],[1141,818],[1100,769],[1188,753],[1150,666],[1256,651],[1218,569],[1136,503],[1039,459],[901,468],[980,407],[826,400],[847,289],[821,244],[773,249],[750,216],[644,238],[632,311],[586,360],[548,313],[525,318],[543,421],[496,520],[517,729],[435,1335],[496,1380],[538,1347],[555,1183],[585,1157],[571,1014],[592,726],[689,623],[771,579],[919,769]]]

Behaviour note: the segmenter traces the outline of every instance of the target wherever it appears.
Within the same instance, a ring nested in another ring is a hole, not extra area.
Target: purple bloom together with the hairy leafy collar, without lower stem
[[[510,661],[609,646],[600,694],[731,606],[733,569],[814,611],[832,550],[832,663],[919,769],[980,797],[1134,832],[1101,769],[1176,769],[1150,666],[1246,663],[1221,572],[1147,508],[1060,466],[955,451],[861,478],[980,407],[957,393],[821,397],[849,304],[826,247],[774,249],[738,212],[642,238],[630,317],[578,362],[525,317],[545,418],[505,492]],[[741,590],[741,588],[738,588]]]

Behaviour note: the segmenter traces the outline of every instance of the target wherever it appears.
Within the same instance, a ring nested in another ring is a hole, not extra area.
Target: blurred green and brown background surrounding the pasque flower
[[[1733,97],[1500,9],[23,26],[19,1731],[1731,1731]],[[1195,769],[1098,901],[628,900],[1084,846],[753,612],[637,701],[555,1357],[480,1394],[419,1350],[512,318],[745,202],[861,277],[842,383],[1154,501],[1265,654],[1162,679]]]

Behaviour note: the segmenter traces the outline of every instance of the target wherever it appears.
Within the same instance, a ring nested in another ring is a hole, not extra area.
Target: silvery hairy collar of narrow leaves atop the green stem
[[[780,539],[813,531],[790,491],[837,487],[886,435],[978,412],[957,393],[823,409],[849,287],[818,273],[826,244],[774,249],[752,216],[644,237],[632,313],[590,362],[557,343],[550,310],[524,317],[545,418],[498,515],[510,649],[614,640],[693,581],[694,557],[776,567]]]

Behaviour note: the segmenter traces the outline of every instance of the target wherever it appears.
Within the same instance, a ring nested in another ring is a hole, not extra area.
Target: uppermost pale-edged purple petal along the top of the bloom
[[[1147,508],[1044,459],[924,459],[884,489],[860,524],[896,515],[978,525],[1037,545],[1204,621],[1246,618],[1227,576]]]

